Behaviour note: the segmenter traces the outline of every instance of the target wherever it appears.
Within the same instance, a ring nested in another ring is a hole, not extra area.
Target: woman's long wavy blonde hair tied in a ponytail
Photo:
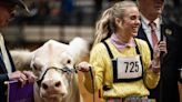
[[[98,20],[95,26],[95,40],[93,45],[111,37],[115,31],[114,18],[123,19],[124,11],[128,7],[136,7],[133,1],[120,1],[108,8]]]

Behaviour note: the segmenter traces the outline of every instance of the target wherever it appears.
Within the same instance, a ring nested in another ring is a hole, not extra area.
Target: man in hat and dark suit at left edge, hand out
[[[16,6],[28,11],[22,0],[0,0],[0,29],[8,26],[14,16]],[[30,71],[16,71],[9,50],[4,45],[2,33],[0,33],[0,102],[7,102],[7,85],[4,81],[18,80],[23,84],[27,81],[34,82],[36,76]]]

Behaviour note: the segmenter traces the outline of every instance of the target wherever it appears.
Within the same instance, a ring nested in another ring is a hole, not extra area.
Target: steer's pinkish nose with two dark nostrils
[[[61,81],[43,81],[41,83],[41,86],[43,90],[49,90],[49,89],[53,89],[53,90],[57,90],[61,86]]]

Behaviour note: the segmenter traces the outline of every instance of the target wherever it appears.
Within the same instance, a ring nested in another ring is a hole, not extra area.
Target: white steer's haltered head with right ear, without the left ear
[[[62,100],[72,89],[74,64],[88,54],[88,43],[80,38],[70,44],[50,40],[33,53],[31,68],[38,76],[40,96]]]

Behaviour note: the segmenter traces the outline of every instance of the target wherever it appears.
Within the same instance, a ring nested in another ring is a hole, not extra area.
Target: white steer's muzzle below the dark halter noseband
[[[37,81],[42,98],[64,98],[69,93],[74,69],[47,69]]]

